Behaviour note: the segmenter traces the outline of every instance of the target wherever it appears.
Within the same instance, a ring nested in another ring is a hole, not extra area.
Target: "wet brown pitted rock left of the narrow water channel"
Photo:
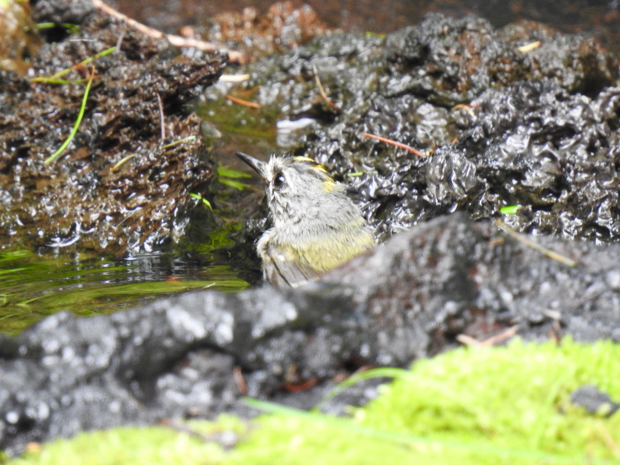
[[[49,165],[43,161],[69,135],[84,84],[33,82],[0,73],[0,246],[64,246],[124,254],[161,247],[185,232],[189,192],[205,192],[212,162],[200,118],[187,102],[215,81],[219,54],[179,55],[154,39],[95,12],[91,2],[37,2],[38,21],[59,27],[30,59],[30,77],[51,76],[118,44],[93,62],[95,79],[78,133]],[[88,68],[88,69],[87,69]],[[78,73],[82,71],[82,75]],[[88,76],[90,66],[62,76]],[[167,139],[161,141],[161,96]],[[193,140],[166,147],[180,138]],[[122,165],[115,167],[125,157]]]

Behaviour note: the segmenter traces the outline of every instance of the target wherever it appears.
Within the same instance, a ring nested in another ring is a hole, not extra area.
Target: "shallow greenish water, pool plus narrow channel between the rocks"
[[[16,334],[45,316],[69,310],[79,316],[109,313],[162,294],[212,288],[239,291],[247,275],[228,260],[228,234],[241,228],[262,198],[262,185],[234,156],[241,150],[268,157],[294,142],[299,131],[278,134],[275,115],[232,104],[228,87],[210,89],[197,102],[205,120],[205,143],[218,162],[210,203],[221,229],[210,242],[184,239],[170,252],[123,259],[79,254],[72,247],[39,250],[0,249],[0,332]],[[197,200],[200,203],[200,200]],[[206,207],[206,205],[204,206]],[[200,228],[201,218],[193,219]],[[253,277],[254,280],[256,277]]]

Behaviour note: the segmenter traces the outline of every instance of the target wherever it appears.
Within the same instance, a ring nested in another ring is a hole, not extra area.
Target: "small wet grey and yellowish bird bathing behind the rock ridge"
[[[360,208],[321,164],[303,156],[274,154],[263,162],[236,154],[267,184],[273,226],[257,243],[265,281],[296,287],[375,245]]]

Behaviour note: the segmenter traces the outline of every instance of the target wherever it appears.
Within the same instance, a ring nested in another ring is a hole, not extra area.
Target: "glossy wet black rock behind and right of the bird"
[[[494,218],[521,205],[510,218],[519,231],[611,241],[619,63],[596,41],[541,24],[495,30],[428,14],[385,39],[334,33],[264,58],[239,69],[252,79],[238,86],[260,86],[257,102],[282,119],[316,120],[293,151],[352,186],[380,239],[455,210]]]

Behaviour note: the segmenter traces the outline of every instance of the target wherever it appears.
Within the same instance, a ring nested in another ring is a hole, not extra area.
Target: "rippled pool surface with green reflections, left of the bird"
[[[161,294],[191,289],[241,290],[246,281],[207,255],[143,255],[128,260],[41,257],[0,252],[0,332],[15,334],[61,310],[112,312]]]

